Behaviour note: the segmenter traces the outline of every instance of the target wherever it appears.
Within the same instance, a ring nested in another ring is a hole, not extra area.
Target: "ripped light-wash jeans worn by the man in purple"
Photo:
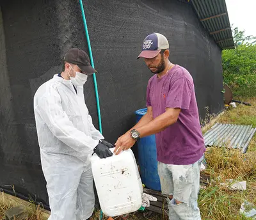
[[[167,198],[169,219],[201,220],[197,199],[200,189],[202,158],[189,165],[172,165],[158,162],[162,193],[173,196],[172,200]],[[177,204],[175,200],[181,203]]]

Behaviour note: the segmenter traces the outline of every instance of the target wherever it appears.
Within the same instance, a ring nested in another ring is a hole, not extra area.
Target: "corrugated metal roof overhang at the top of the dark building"
[[[192,0],[203,26],[221,49],[234,49],[225,0]]]

